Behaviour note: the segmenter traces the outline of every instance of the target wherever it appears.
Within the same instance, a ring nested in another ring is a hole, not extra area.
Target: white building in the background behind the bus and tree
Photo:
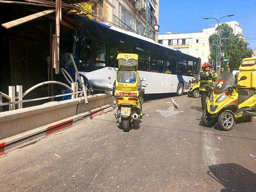
[[[232,27],[234,34],[239,34],[241,38],[242,28],[237,21],[225,22]],[[182,50],[183,53],[189,53],[201,58],[201,63],[211,62],[209,37],[216,33],[215,27],[206,28],[197,33],[171,33],[166,32],[165,35],[159,35],[159,43],[166,46]]]

